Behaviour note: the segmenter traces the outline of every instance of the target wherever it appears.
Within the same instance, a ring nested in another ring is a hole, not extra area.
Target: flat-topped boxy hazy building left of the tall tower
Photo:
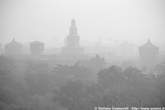
[[[30,51],[32,55],[41,55],[44,52],[44,43],[33,41],[30,43]]]

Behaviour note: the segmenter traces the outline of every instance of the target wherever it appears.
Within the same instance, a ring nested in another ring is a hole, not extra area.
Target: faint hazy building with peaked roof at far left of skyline
[[[23,45],[13,40],[5,45],[5,55],[7,56],[19,56],[23,54]]]

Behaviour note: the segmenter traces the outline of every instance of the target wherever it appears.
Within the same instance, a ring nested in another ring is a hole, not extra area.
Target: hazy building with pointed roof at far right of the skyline
[[[143,67],[152,69],[158,62],[159,48],[148,40],[147,43],[139,47],[139,55]]]

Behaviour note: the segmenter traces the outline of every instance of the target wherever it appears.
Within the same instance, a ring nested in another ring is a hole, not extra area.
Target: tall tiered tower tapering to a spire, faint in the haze
[[[76,21],[72,19],[69,35],[65,39],[64,47],[61,49],[63,60],[72,62],[81,59],[83,48],[80,46],[80,36],[77,32]]]

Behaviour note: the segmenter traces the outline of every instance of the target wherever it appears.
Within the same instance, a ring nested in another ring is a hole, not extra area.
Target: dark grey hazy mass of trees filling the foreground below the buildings
[[[51,62],[51,61],[50,61]],[[93,110],[95,106],[165,106],[165,66],[159,75],[112,65],[78,65],[0,57],[0,110]]]

